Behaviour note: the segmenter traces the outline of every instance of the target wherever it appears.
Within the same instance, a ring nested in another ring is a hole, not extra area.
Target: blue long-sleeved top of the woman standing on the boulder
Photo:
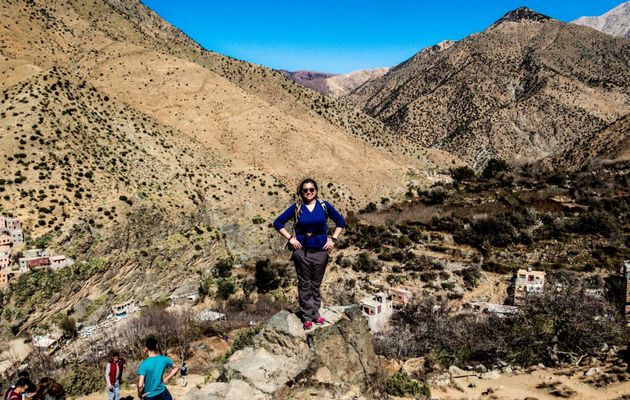
[[[337,228],[345,228],[346,221],[343,219],[343,216],[329,202],[326,201],[325,203],[328,216],[335,222]],[[296,207],[295,204],[289,206],[273,221],[273,227],[276,230],[280,230],[290,219],[295,219]],[[327,234],[326,211],[322,208],[319,200],[315,200],[313,211],[309,211],[302,204],[298,222],[295,224],[295,237],[302,244],[302,247],[305,249],[321,249],[326,244]]]

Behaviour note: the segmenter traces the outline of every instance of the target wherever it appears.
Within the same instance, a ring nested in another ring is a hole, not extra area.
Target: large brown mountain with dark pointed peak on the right
[[[625,39],[523,8],[421,51],[346,99],[475,167],[493,157],[527,162],[575,142],[598,146],[593,134],[628,113],[629,60]]]

